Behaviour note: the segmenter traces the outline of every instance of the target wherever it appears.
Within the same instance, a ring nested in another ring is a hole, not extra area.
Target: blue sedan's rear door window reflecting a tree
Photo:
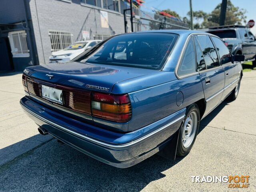
[[[220,66],[216,50],[208,35],[197,35],[196,39],[204,55],[204,61],[207,69]]]

